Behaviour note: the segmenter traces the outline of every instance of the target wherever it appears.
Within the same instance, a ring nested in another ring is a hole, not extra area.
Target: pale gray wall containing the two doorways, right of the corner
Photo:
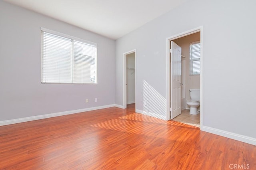
[[[255,6],[190,0],[118,39],[116,104],[123,99],[122,53],[136,49],[136,107],[143,110],[144,81],[166,99],[166,38],[203,26],[203,126],[256,138]]]

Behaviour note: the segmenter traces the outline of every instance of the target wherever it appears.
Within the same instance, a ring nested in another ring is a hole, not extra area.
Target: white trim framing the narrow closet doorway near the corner
[[[127,86],[126,86],[126,80],[127,80],[127,76],[126,76],[126,55],[130,54],[130,53],[135,53],[135,110],[136,110],[136,49],[133,49],[131,51],[128,51],[126,53],[123,53],[123,109],[126,109],[126,105],[127,105]]]

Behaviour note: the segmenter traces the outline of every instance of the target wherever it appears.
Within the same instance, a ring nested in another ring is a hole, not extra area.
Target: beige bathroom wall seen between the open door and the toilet
[[[190,69],[189,45],[190,43],[197,42],[197,41],[200,41],[200,32],[174,40],[174,42],[181,47],[182,55],[185,56],[186,69],[185,69],[185,75],[184,74],[182,75],[182,77],[183,76],[186,77],[186,80],[184,83],[185,87],[184,86],[182,87],[183,88],[182,92],[185,92],[185,95],[182,94],[182,96],[185,96],[186,100],[190,99],[189,89],[200,89],[200,75],[189,75],[189,69]],[[186,105],[186,109],[189,109],[188,105]]]

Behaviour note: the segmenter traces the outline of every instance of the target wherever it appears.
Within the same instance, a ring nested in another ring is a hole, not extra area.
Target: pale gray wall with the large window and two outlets
[[[40,27],[97,43],[98,85],[41,84]],[[0,82],[0,121],[114,104],[115,41],[0,1]]]

